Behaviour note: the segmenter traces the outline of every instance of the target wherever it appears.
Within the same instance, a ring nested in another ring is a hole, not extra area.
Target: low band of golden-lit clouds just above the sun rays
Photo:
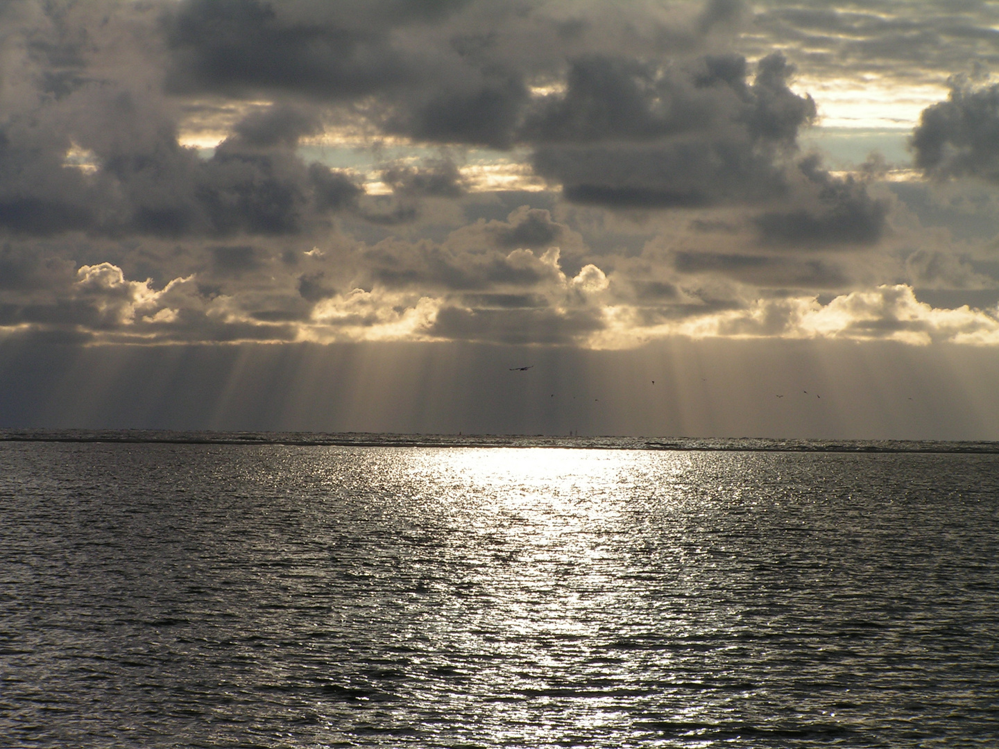
[[[250,248],[216,248],[214,255],[241,268],[254,262]],[[505,261],[504,268],[486,262],[466,269],[478,284],[408,279],[351,289],[312,272],[289,277],[283,290],[259,287],[240,296],[206,288],[196,276],[157,290],[151,281],[130,281],[105,262],[81,266],[65,291],[48,302],[0,305],[0,336],[73,334],[100,343],[147,344],[454,340],[590,349],[629,348],[672,336],[999,345],[999,311],[966,305],[935,309],[906,285],[825,302],[807,294],[739,302],[712,300],[703,292],[698,298],[695,287],[665,281],[618,279],[592,264],[568,277],[558,270],[553,250],[540,257],[512,251]],[[736,276],[774,273],[767,263],[746,259],[682,262],[698,272],[706,265],[710,272],[723,266]],[[447,273],[443,278],[451,280]]]

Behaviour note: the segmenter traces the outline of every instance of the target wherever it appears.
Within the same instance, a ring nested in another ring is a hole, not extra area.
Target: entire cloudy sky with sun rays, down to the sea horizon
[[[0,427],[999,439],[992,70],[976,0],[0,3]]]

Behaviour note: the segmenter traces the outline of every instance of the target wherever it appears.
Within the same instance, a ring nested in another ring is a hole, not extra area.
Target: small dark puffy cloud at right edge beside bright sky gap
[[[947,101],[923,110],[911,145],[927,176],[999,182],[999,84],[955,80]]]

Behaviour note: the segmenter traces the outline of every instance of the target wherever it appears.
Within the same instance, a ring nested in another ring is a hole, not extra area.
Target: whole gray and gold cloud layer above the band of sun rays
[[[876,307],[851,293],[996,286],[982,237],[999,211],[975,203],[978,244],[952,247],[970,225],[945,195],[959,178],[999,181],[996,88],[955,79],[912,138],[938,181],[891,188],[876,159],[846,175],[802,153],[817,110],[795,72],[832,70],[822,45],[848,71],[887,66],[934,29],[988,46],[989,11],[823,5],[2,4],[0,329],[133,343],[889,338],[901,329],[849,318]],[[182,145],[192,122],[219,129],[214,149]],[[315,150],[359,144],[367,172]],[[543,190],[475,182],[500,167]],[[878,294],[883,318],[914,316],[909,333],[992,335],[990,319],[941,322]],[[845,300],[842,319],[815,322],[809,299]]]

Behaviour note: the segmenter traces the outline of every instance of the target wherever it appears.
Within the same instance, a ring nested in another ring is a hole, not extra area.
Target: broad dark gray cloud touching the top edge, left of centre
[[[507,148],[532,140],[520,132],[525,118],[534,121],[528,131],[550,127],[528,116],[532,78],[604,48],[688,53],[730,26],[739,8],[715,0],[670,27],[640,9],[532,1],[189,0],[164,21],[168,85],[334,104],[368,97],[366,115],[385,133]]]

